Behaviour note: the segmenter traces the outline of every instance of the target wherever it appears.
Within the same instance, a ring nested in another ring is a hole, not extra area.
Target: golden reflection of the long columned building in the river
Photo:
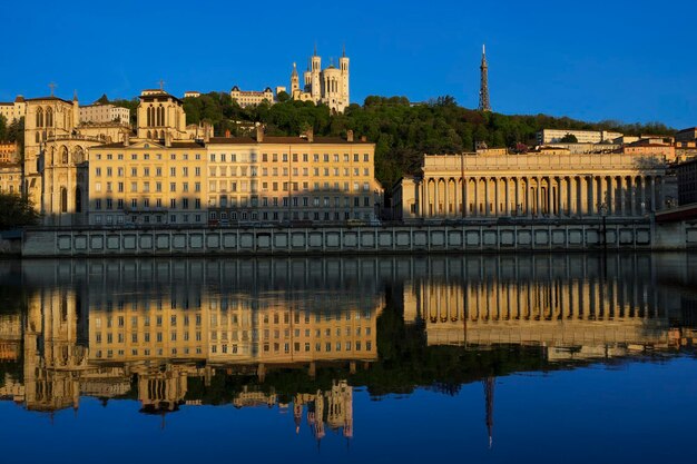
[[[675,348],[693,328],[676,325],[685,298],[661,288],[655,259],[433,258],[429,275],[404,286],[404,319],[423,323],[431,346],[536,344],[549,361]]]

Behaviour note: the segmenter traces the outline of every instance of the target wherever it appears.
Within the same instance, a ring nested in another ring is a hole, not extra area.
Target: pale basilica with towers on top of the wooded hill
[[[346,50],[342,51],[338,59],[338,68],[332,62],[322,69],[322,58],[317,56],[317,49],[310,59],[307,70],[303,73],[303,87],[301,87],[297,67],[293,63],[291,73],[291,98],[301,101],[313,101],[315,105],[323,103],[334,112],[344,112],[351,105],[348,91],[348,57]]]

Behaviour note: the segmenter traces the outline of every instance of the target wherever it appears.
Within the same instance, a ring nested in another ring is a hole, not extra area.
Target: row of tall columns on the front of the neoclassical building
[[[660,210],[664,176],[425,177],[422,217],[634,217]],[[464,205],[464,210],[463,210]]]

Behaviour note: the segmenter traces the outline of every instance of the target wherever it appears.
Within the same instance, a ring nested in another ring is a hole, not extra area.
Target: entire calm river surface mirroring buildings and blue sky
[[[691,462],[696,264],[0,261],[0,462]]]

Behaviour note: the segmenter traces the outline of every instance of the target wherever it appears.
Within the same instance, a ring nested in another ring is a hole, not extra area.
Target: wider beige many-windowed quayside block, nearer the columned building
[[[212,138],[208,210],[214,223],[371,220],[381,204],[374,144],[314,137]]]

